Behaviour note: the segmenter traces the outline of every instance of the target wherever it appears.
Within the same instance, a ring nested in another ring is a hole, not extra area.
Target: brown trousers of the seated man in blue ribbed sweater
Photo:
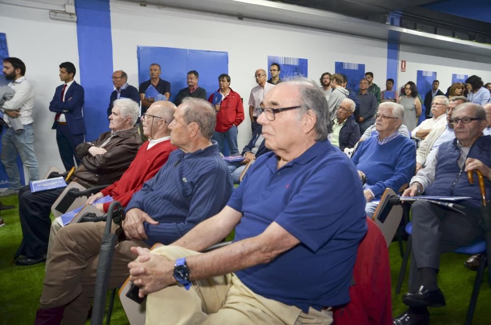
[[[59,229],[46,261],[41,308],[66,305],[62,324],[84,325],[94,298],[99,251],[106,222],[76,223]],[[118,226],[112,224],[114,233]],[[109,288],[124,283],[129,276],[128,263],[136,256],[131,246],[149,247],[142,241],[117,243],[112,258]]]

